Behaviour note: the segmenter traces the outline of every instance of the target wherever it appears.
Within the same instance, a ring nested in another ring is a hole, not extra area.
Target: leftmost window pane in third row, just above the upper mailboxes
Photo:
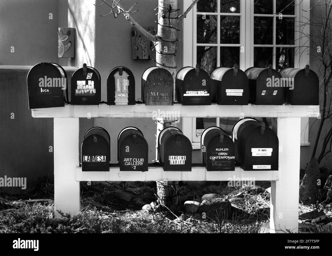
[[[197,46],[196,63],[210,74],[217,67],[217,47]]]

